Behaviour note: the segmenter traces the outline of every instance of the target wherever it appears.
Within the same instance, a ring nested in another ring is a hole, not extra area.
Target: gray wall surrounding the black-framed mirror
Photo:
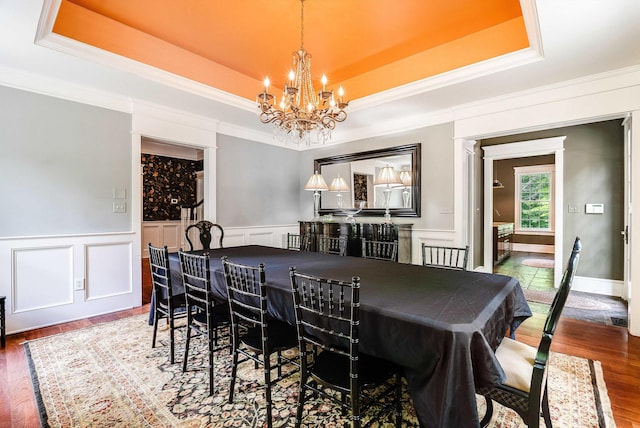
[[[313,174],[313,160],[328,156],[358,153],[404,144],[422,143],[421,216],[394,217],[395,223],[411,223],[414,229],[452,230],[453,221],[453,123],[420,128],[400,134],[367,138],[341,144],[323,146],[302,152],[299,189],[303,189]],[[327,183],[329,184],[329,183]],[[312,192],[300,190],[301,220],[313,218]],[[382,217],[360,219],[381,221]]]

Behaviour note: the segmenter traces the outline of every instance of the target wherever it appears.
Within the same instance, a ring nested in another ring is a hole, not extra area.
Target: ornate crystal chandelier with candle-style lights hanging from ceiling
[[[322,75],[322,90],[317,94],[311,80],[311,55],[304,50],[304,1],[300,0],[300,49],[293,53],[293,69],[282,91],[280,103],[269,93],[269,78],[264,79],[264,91],[256,97],[258,116],[262,123],[275,125],[274,135],[285,143],[326,143],[337,122],[347,118],[342,86],[338,97],[327,90],[327,77]],[[294,71],[295,70],[295,71]]]

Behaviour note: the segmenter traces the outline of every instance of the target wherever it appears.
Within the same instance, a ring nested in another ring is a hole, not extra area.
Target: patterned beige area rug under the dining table
[[[165,340],[151,348],[146,316],[134,316],[24,344],[41,423],[44,427],[262,427],[265,422],[262,372],[252,364],[239,370],[234,403],[227,403],[228,350],[216,354],[216,392],[208,395],[205,343],[192,341],[189,370],[168,363]],[[158,332],[166,338],[166,330]],[[181,339],[180,339],[181,340]],[[176,349],[180,350],[178,342]],[[274,426],[293,426],[297,378],[273,388]],[[549,370],[554,426],[614,427],[611,405],[597,361],[552,354]],[[403,426],[417,426],[411,399],[403,397]],[[478,397],[478,411],[484,400]],[[365,415],[366,419],[366,415]],[[373,426],[392,426],[391,416]],[[310,400],[305,426],[342,426],[335,407]],[[522,427],[519,416],[495,405],[492,427]]]

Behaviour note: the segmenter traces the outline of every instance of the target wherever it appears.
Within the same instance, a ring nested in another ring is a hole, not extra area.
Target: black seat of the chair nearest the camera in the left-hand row
[[[358,378],[361,386],[380,384],[396,373],[398,367],[386,360],[360,354]],[[320,382],[349,389],[349,357],[322,351],[314,359],[311,374]]]

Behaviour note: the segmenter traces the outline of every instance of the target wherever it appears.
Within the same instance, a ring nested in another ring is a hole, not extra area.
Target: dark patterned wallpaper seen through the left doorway
[[[197,202],[196,173],[202,171],[202,161],[143,153],[141,162],[143,220],[180,220],[180,207]]]

